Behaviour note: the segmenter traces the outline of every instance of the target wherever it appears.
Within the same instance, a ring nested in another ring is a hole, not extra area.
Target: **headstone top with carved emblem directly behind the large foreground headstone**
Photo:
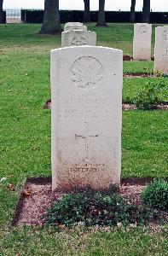
[[[61,33],[61,47],[81,45],[96,46],[96,32],[73,30]]]

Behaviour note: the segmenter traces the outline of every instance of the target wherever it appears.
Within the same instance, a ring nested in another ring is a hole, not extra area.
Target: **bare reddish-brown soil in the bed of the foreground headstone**
[[[121,181],[119,194],[130,203],[141,204],[142,189],[153,178],[130,178]],[[28,178],[20,201],[16,207],[13,225],[40,225],[43,226],[42,216],[53,201],[61,198],[61,192],[52,192],[51,179],[46,177]]]

